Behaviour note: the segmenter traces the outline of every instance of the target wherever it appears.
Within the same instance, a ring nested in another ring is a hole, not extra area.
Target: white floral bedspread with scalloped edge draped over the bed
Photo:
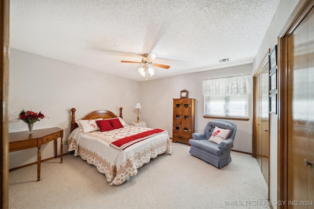
[[[120,130],[120,131],[119,131]],[[102,140],[95,137],[98,134],[111,136],[129,136],[127,134],[139,131],[152,130],[126,125],[124,128],[100,133],[91,132],[80,136],[79,128],[74,130],[68,138],[69,151],[75,151],[75,156],[80,156],[87,163],[93,164],[98,171],[106,175],[110,185],[120,185],[128,176],[135,176],[137,168],[148,163],[151,158],[156,158],[162,153],[171,154],[171,142],[168,133],[153,136],[137,142],[123,151],[109,145],[111,140]],[[120,133],[119,133],[120,132]]]

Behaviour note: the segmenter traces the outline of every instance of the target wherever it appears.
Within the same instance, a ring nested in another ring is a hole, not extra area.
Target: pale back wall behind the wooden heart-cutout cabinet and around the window
[[[180,91],[186,89],[188,97],[195,98],[195,132],[202,132],[210,120],[203,117],[203,80],[243,74],[252,74],[252,64],[143,81],[140,83],[140,102],[142,106],[140,119],[146,121],[148,127],[159,127],[167,130],[169,136],[172,138],[172,99],[180,98]],[[249,104],[252,104],[252,93],[249,94]],[[251,112],[252,105],[249,106],[250,118],[252,116]],[[233,121],[237,124],[234,149],[252,153],[252,120]]]

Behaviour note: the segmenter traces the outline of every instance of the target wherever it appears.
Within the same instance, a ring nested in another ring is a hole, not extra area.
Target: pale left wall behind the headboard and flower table
[[[9,59],[9,119],[17,118],[23,109],[42,111],[49,118],[37,121],[34,129],[62,128],[63,141],[66,142],[73,107],[77,109],[76,119],[94,110],[110,110],[119,116],[120,107],[123,107],[123,119],[127,123],[136,117],[134,105],[140,98],[137,81],[13,48],[10,48]],[[26,123],[22,120],[9,122],[9,132],[26,130]],[[67,149],[64,143],[64,153],[68,152]],[[53,157],[53,143],[44,144],[41,151],[42,159]],[[9,168],[36,161],[37,148],[9,154]]]

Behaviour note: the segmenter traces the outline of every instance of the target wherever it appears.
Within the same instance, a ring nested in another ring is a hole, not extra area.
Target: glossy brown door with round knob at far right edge
[[[314,207],[314,9],[288,37],[288,208]],[[304,204],[304,206],[300,206]]]

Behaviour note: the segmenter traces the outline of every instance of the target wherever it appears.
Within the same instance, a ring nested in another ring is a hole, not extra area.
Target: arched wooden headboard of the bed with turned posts
[[[122,107],[120,107],[120,117],[122,118]],[[71,132],[76,129],[78,127],[78,124],[75,122],[75,108],[71,109],[72,112],[72,116],[71,116]],[[88,120],[88,119],[97,119],[97,118],[114,118],[114,117],[118,117],[116,115],[114,115],[111,111],[108,110],[96,110],[93,111],[91,113],[89,113],[88,115],[86,115],[85,117],[83,117],[81,120]]]

